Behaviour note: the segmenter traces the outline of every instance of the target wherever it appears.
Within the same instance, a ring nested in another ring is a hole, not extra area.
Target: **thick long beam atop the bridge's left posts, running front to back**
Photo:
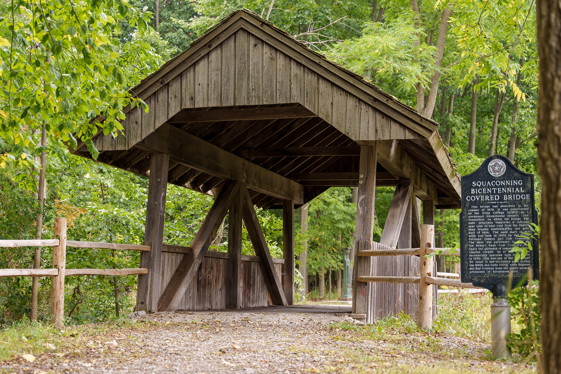
[[[171,160],[214,177],[246,183],[269,196],[304,204],[304,186],[242,159],[171,124],[164,123],[136,144],[137,147],[169,155]]]

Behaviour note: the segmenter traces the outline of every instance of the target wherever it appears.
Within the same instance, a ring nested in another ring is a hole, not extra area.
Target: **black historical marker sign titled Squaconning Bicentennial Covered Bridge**
[[[518,235],[537,224],[534,174],[522,172],[500,155],[490,156],[475,172],[462,177],[460,220],[462,282],[478,285],[513,284],[534,268],[539,270],[537,243],[524,260],[514,263],[509,252]]]

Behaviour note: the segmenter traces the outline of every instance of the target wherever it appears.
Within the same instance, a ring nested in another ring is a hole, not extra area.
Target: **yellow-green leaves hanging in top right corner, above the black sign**
[[[459,85],[477,75],[481,78],[478,88],[510,86],[518,99],[526,100],[516,80],[521,72],[528,83],[537,85],[534,1],[460,0],[454,7],[450,32],[457,41],[459,59],[454,70],[467,71]]]

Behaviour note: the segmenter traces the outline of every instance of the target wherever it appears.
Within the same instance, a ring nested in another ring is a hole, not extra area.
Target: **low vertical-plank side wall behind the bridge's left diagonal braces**
[[[162,252],[162,287],[168,284],[183,253]],[[183,295],[179,308],[183,310],[226,308],[226,258],[204,257]],[[282,264],[275,264],[282,281]],[[260,307],[271,304],[269,292],[257,261],[242,261],[242,306]]]

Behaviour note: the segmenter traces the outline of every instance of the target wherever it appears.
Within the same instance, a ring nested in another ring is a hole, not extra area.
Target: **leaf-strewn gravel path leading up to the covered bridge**
[[[467,339],[391,331],[384,339],[372,339],[359,336],[357,330],[332,327],[333,322],[349,320],[319,313],[157,313],[103,338],[81,336],[75,352],[59,353],[61,357],[45,353],[35,362],[20,358],[0,372],[406,373],[429,368],[434,372],[435,367],[444,372],[534,371],[524,364],[481,359],[488,345]]]

